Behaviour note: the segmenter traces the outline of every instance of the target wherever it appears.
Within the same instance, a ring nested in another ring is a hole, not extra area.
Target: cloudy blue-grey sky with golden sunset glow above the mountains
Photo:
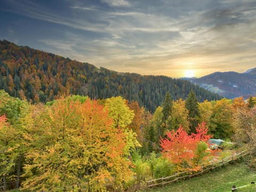
[[[256,0],[0,0],[0,39],[170,77],[256,67]]]

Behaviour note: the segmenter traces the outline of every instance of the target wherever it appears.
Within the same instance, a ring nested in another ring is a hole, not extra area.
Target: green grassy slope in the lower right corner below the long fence
[[[211,191],[225,192],[231,191],[232,185],[236,187],[250,184],[251,181],[256,183],[256,171],[249,170],[245,163],[233,163],[206,173],[199,177],[186,181],[172,183],[166,187],[158,187],[150,189],[151,192],[162,191]],[[237,191],[256,191],[256,184],[250,185]]]

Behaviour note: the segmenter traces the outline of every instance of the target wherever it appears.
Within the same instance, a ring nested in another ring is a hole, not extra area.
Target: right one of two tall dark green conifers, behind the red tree
[[[196,132],[196,126],[198,125],[200,119],[200,113],[198,109],[198,101],[196,99],[196,94],[193,90],[188,94],[185,106],[188,109],[188,119],[189,119],[189,129],[191,133]]]

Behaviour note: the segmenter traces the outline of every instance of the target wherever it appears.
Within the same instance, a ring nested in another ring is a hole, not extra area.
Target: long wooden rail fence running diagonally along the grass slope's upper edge
[[[195,177],[198,174],[202,174],[206,171],[213,170],[219,166],[225,165],[231,161],[235,161],[236,159],[238,159],[246,154],[248,154],[248,151],[242,151],[239,154],[235,154],[235,155],[233,154],[229,157],[222,158],[220,161],[212,162],[212,163],[206,164],[204,166],[201,166],[201,170],[198,172],[195,172],[195,171],[179,172],[179,173],[175,173],[174,175],[171,175],[169,177],[149,180],[149,181],[146,181],[146,183],[147,183],[148,187],[154,187],[154,186],[164,186],[166,184],[178,181],[180,179],[186,179],[186,178],[190,179],[191,177]]]

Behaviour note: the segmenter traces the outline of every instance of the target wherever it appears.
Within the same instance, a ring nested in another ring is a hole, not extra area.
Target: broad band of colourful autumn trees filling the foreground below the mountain
[[[255,155],[255,100],[250,107],[241,98],[205,101],[199,120],[209,130],[202,123],[189,134],[182,99],[171,101],[166,122],[172,131],[162,132],[163,107],[151,114],[122,97],[79,95],[31,105],[0,90],[0,183],[4,191],[124,191],[213,162],[218,157],[207,144],[208,131],[221,139],[234,132]]]

